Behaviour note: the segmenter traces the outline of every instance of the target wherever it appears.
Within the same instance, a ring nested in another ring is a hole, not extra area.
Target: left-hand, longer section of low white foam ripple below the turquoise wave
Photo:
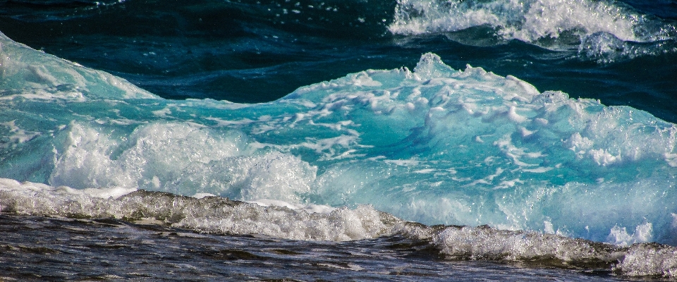
[[[115,197],[106,197],[113,195]],[[221,197],[197,199],[120,188],[94,192],[0,178],[0,206],[4,212],[18,214],[114,217],[169,224],[202,232],[335,241],[392,235],[403,223],[369,206],[331,209],[281,201],[257,202],[265,205],[233,202]]]

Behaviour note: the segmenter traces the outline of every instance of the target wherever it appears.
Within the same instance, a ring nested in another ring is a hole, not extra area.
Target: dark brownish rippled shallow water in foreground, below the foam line
[[[621,281],[608,271],[445,261],[425,241],[214,235],[116,219],[0,214],[8,281]]]

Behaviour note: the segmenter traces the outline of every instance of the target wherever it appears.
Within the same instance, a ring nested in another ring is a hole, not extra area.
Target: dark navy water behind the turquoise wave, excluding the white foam
[[[677,20],[675,1],[609,3],[672,28]],[[456,69],[479,66],[515,75],[541,91],[561,90],[677,121],[677,66],[670,63],[677,61],[674,30],[666,40],[630,43],[647,50],[628,58],[585,56],[576,39],[552,51],[501,38],[487,25],[398,35],[388,30],[396,1],[21,0],[0,5],[0,30],[17,42],[119,75],[170,99],[268,102],[346,73],[413,68],[421,54],[434,52]]]

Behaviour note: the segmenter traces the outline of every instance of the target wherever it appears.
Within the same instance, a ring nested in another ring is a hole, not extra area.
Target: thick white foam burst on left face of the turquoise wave
[[[66,142],[49,177],[51,185],[297,202],[315,178],[316,168],[296,157],[278,152],[252,155],[241,133],[221,135],[190,123],[144,125],[123,137],[71,123],[62,134]]]

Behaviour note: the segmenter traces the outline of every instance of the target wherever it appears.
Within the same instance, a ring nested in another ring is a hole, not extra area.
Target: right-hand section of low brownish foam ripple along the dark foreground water
[[[561,235],[498,231],[486,226],[449,227],[433,238],[448,258],[536,264],[556,259],[561,266],[570,267],[609,264],[624,276],[674,278],[677,275],[677,248],[666,245],[636,244],[622,248]]]

